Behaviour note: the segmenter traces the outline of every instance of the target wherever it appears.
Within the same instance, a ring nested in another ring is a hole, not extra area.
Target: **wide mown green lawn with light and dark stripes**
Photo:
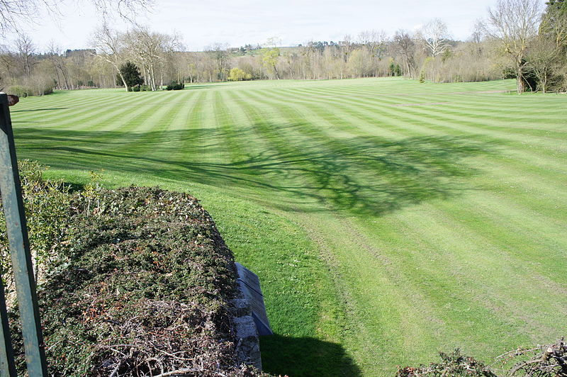
[[[391,376],[567,332],[567,96],[513,81],[262,81],[60,92],[18,157],[201,198],[263,284],[266,371]]]

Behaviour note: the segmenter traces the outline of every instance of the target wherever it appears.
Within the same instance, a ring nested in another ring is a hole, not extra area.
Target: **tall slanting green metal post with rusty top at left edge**
[[[13,277],[22,323],[28,376],[47,377],[45,344],[41,331],[38,298],[30,254],[30,242],[23,208],[16,147],[13,142],[8,96],[0,94],[0,193],[6,217]]]

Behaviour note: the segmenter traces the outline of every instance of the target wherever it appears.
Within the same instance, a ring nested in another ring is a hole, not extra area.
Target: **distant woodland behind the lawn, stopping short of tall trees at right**
[[[347,35],[337,43],[310,42],[296,47],[266,43],[230,48],[219,43],[203,52],[183,52],[179,36],[147,28],[119,33],[103,27],[92,40],[90,50],[63,51],[50,45],[47,51],[38,52],[33,42],[21,35],[11,47],[0,50],[0,86],[35,87],[41,83],[33,94],[42,94],[52,87],[115,86],[118,74],[118,82],[126,88],[128,84],[120,74],[126,62],[140,69],[152,90],[171,81],[417,77],[422,69],[434,81],[478,81],[497,79],[502,72],[489,59],[492,47],[487,41],[447,38],[444,53],[439,53],[438,45],[432,45],[430,52],[425,38],[404,30],[392,38],[369,31],[358,38]],[[440,69],[440,64],[448,69]]]

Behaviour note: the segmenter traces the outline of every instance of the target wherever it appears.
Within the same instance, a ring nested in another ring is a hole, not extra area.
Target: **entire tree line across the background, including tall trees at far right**
[[[465,41],[451,38],[439,19],[417,32],[393,35],[365,31],[342,41],[278,47],[230,48],[215,44],[203,52],[184,52],[179,35],[136,27],[125,33],[103,26],[91,50],[62,52],[55,45],[39,53],[20,35],[2,47],[0,86],[30,86],[35,94],[49,87],[115,86],[128,89],[120,67],[133,62],[151,90],[176,82],[247,79],[345,79],[422,77],[436,82],[517,78],[519,92],[567,89],[567,0],[498,0],[485,21]],[[47,89],[46,89],[47,88]]]

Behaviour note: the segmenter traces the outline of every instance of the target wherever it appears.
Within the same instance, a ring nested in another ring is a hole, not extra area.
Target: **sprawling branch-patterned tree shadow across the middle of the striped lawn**
[[[15,135],[20,157],[57,169],[105,169],[241,193],[260,190],[264,198],[290,198],[274,200],[286,210],[307,200],[320,203],[312,210],[374,215],[470,189],[462,178],[476,169],[466,158],[493,150],[472,137],[335,139],[300,123],[147,133],[24,127]],[[262,137],[259,152],[247,148],[252,135]],[[235,156],[232,149],[240,153]],[[200,161],[203,154],[230,157],[227,162]]]

